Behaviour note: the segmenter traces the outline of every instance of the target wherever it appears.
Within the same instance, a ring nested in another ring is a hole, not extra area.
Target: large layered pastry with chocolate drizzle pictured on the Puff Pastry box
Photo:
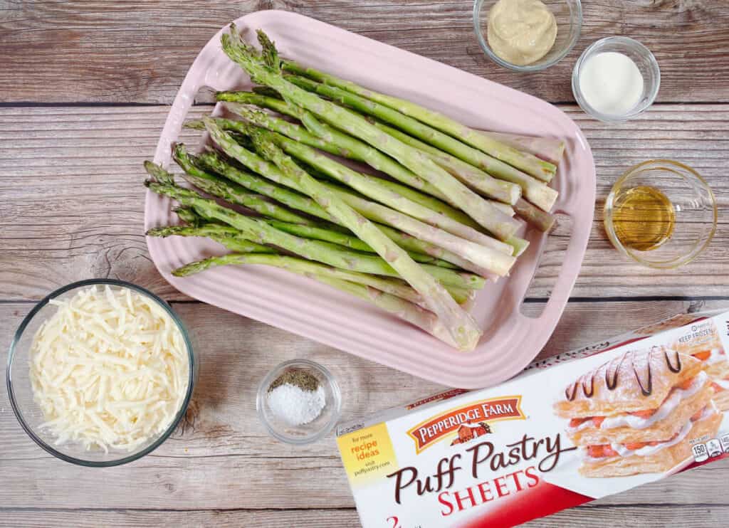
[[[668,347],[628,350],[569,383],[554,404],[585,477],[664,473],[716,435],[722,414],[702,360]]]

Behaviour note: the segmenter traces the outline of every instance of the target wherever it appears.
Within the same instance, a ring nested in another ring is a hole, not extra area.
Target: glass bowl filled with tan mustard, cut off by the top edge
[[[473,28],[488,58],[539,71],[567,55],[582,30],[580,0],[475,0]]]

